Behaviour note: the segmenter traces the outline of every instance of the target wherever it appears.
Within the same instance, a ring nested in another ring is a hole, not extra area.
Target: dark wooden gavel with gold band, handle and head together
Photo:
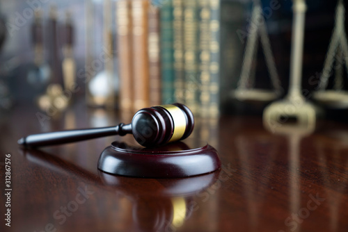
[[[132,133],[136,142],[142,146],[155,147],[184,140],[192,133],[193,126],[191,110],[182,103],[173,103],[143,108],[136,112],[130,124],[28,135],[18,140],[18,144],[35,148]]]

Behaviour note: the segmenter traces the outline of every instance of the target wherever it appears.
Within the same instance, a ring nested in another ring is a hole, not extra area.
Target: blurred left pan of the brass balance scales
[[[279,95],[276,92],[270,90],[237,89],[232,92],[232,97],[239,101],[246,102],[270,102],[278,99]]]

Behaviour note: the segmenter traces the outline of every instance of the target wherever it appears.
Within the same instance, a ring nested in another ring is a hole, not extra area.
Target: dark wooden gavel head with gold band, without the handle
[[[181,103],[139,110],[132,119],[132,133],[139,144],[153,147],[187,138],[193,131],[191,110]]]

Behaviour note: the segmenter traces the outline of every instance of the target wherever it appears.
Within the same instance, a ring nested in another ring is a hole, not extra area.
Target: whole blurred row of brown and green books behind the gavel
[[[219,115],[219,0],[116,2],[120,107],[184,103]]]

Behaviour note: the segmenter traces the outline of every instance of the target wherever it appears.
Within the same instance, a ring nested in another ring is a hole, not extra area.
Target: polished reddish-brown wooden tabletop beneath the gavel
[[[101,151],[118,137],[40,150],[17,146],[30,133],[111,126],[124,115],[79,104],[44,116],[33,106],[1,113],[1,231],[348,231],[346,124],[321,121],[303,135],[270,133],[260,117],[197,119],[192,137],[216,147],[220,170],[136,179],[97,170]]]

